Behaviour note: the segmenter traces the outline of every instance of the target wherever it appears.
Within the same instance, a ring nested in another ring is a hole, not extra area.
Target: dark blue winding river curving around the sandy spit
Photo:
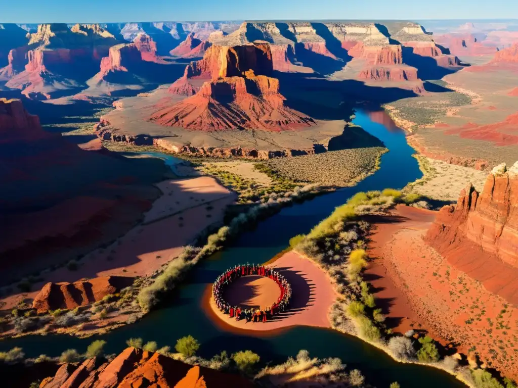
[[[0,350],[20,346],[29,357],[40,353],[54,356],[69,348],[82,352],[94,339],[103,338],[107,341],[108,352],[119,352],[130,337],[154,340],[159,346],[173,347],[178,338],[190,334],[202,344],[199,355],[204,357],[211,357],[222,350],[234,352],[250,349],[264,360],[284,361],[298,350],[307,349],[312,356],[339,357],[349,368],[360,369],[367,376],[367,382],[378,388],[387,387],[394,381],[398,381],[404,388],[465,386],[441,370],[398,363],[362,340],[334,330],[296,326],[266,336],[264,333],[234,334],[219,329],[200,308],[207,285],[225,268],[247,261],[268,261],[288,245],[291,237],[307,233],[336,206],[346,202],[358,191],[402,188],[422,176],[404,132],[392,128],[389,130],[373,122],[369,114],[362,111],[356,112],[354,123],[379,138],[390,150],[381,157],[380,169],[358,185],[286,207],[277,215],[259,223],[253,231],[242,234],[232,247],[200,263],[188,284],[179,288],[169,306],[153,311],[135,324],[86,339],[67,335],[26,336],[0,343]],[[167,155],[162,157],[167,158]],[[172,159],[169,162],[174,163]]]

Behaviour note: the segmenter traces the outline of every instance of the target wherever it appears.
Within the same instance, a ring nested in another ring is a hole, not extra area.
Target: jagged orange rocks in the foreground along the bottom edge
[[[111,362],[95,357],[79,365],[63,364],[40,388],[252,388],[237,375],[185,364],[159,353],[127,348]]]

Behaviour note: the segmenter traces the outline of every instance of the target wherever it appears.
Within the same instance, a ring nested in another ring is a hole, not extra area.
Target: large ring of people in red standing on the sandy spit
[[[241,276],[259,275],[274,280],[281,291],[277,302],[264,309],[242,309],[239,306],[231,306],[223,299],[223,288]],[[212,285],[212,295],[216,306],[229,318],[236,321],[246,319],[247,322],[266,322],[271,317],[284,311],[290,303],[292,289],[290,283],[271,268],[264,265],[246,264],[236,265],[222,273]]]

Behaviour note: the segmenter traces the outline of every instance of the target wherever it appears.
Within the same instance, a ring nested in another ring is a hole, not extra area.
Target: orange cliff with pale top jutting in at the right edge
[[[456,205],[441,208],[425,240],[449,261],[478,257],[518,268],[518,162],[495,167],[481,193],[463,189]]]

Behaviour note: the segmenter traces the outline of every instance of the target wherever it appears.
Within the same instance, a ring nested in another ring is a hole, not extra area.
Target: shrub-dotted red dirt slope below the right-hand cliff
[[[367,274],[379,290],[375,296],[388,308],[388,323],[398,331],[410,324],[429,330],[442,344],[460,344],[459,352],[471,349],[503,375],[518,377],[518,311],[481,279],[463,272],[465,266],[449,263],[425,244],[423,235],[434,217],[434,212],[398,206],[392,216],[372,220],[369,254],[375,260]],[[495,277],[505,280],[507,274]]]

